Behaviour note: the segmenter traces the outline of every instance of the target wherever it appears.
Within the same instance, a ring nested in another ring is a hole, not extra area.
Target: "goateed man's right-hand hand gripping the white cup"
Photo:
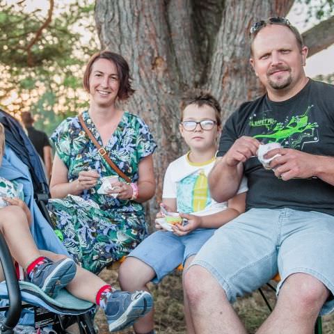
[[[276,177],[287,181],[295,177],[306,179],[315,175],[317,156],[291,148],[276,148],[264,155],[266,159],[280,154],[270,162]]]

